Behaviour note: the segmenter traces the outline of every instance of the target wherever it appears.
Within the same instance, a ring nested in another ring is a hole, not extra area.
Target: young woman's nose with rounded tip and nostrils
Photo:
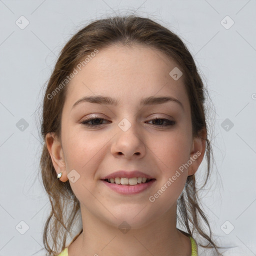
[[[125,131],[117,127],[117,134],[114,136],[111,145],[111,153],[114,157],[141,158],[145,155],[145,151],[143,135],[135,124],[132,124]]]

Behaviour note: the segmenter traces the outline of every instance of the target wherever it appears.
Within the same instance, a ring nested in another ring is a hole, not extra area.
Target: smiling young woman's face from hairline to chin
[[[173,208],[187,175],[196,171],[198,158],[180,171],[198,143],[192,138],[183,76],[174,80],[169,75],[174,67],[157,49],[110,46],[99,50],[67,85],[61,141],[54,140],[59,157],[52,156],[52,161],[57,173],[59,166],[64,168],[62,181],[69,178],[82,215],[91,213],[113,226],[126,221],[132,228],[141,227]],[[95,95],[117,103],[74,105]],[[147,97],[176,100],[141,104]],[[154,181],[138,193],[121,194],[102,180],[117,170],[139,170]],[[155,196],[159,189],[162,193]]]

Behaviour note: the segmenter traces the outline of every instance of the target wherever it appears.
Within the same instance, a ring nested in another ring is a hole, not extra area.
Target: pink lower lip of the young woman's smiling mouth
[[[112,190],[116,191],[120,194],[137,194],[139,192],[144,191],[145,189],[149,188],[155,181],[152,179],[146,183],[137,183],[136,185],[121,185],[115,183],[108,183],[105,180],[102,180],[106,186],[111,188]]]

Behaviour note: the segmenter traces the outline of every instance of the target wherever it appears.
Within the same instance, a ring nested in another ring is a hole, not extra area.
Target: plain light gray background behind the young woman
[[[115,12],[155,18],[193,54],[214,105],[207,121],[215,164],[202,206],[216,241],[256,255],[255,0],[0,0],[0,255],[42,248],[50,209],[38,175],[42,86],[68,38]]]

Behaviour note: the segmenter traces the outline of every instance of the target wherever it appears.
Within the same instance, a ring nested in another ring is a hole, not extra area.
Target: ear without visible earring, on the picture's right
[[[188,167],[188,173],[187,173],[188,176],[193,175],[196,172],[196,170],[198,169],[203,159],[203,155],[205,152],[206,135],[207,135],[207,131],[205,128],[203,128],[199,132],[198,136],[192,139],[190,158],[189,158],[192,163],[189,164],[189,167]]]

